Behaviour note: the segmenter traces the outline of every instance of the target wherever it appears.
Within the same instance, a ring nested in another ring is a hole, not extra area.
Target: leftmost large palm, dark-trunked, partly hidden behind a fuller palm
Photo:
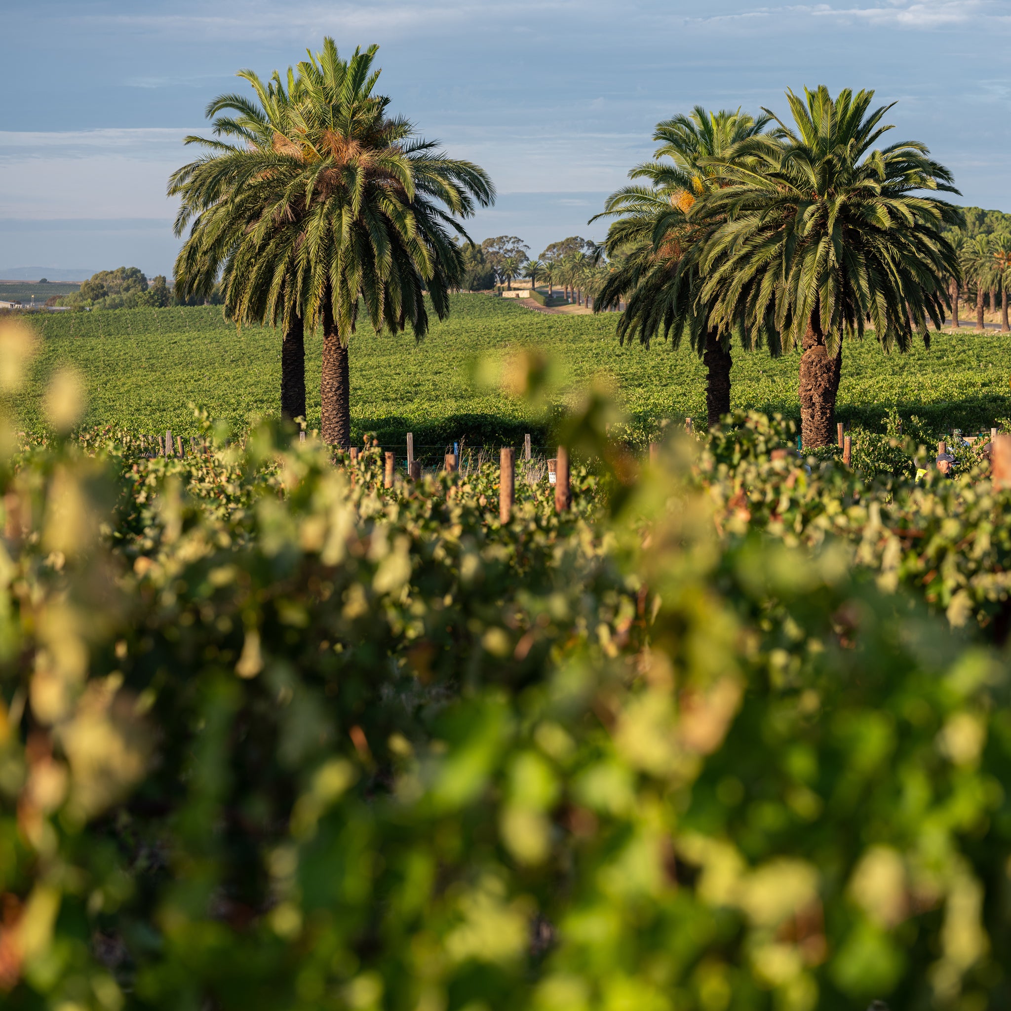
[[[182,197],[176,235],[181,236],[193,221],[175,266],[174,291],[181,298],[205,298],[213,292],[222,266],[239,246],[249,242],[264,208],[274,204],[279,195],[271,185],[273,180],[263,173],[258,177],[257,172],[264,162],[276,158],[277,139],[291,130],[298,81],[290,68],[287,87],[276,72],[267,83],[248,70],[238,76],[252,85],[256,101],[243,95],[220,95],[206,110],[208,118],[217,117],[214,134],[233,139],[238,147],[186,137],[186,144],[204,145],[212,154],[184,166],[170,179],[169,194]],[[225,312],[233,318],[275,327],[282,324],[281,417],[290,421],[305,417],[304,325],[292,290],[294,264],[290,256],[277,254],[271,249],[260,252],[261,270],[251,279],[252,290],[237,290],[235,285],[225,285],[222,290]],[[268,309],[257,284],[271,277],[278,279],[281,296]]]

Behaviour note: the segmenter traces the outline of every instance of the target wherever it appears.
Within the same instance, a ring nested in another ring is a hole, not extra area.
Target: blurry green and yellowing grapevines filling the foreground
[[[982,452],[871,478],[739,413],[647,459],[598,395],[571,508],[521,460],[503,523],[495,467],[47,402],[2,441],[5,1007],[1006,1003]]]

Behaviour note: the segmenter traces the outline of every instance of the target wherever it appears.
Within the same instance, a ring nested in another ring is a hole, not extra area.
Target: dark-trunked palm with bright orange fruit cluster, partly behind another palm
[[[629,173],[645,184],[616,191],[596,215],[616,220],[605,243],[613,270],[593,300],[593,311],[620,308],[625,300],[618,324],[622,343],[637,336],[648,347],[662,332],[676,350],[686,336],[706,365],[710,428],[730,411],[731,337],[709,326],[710,306],[699,299],[699,254],[712,222],[699,224],[688,212],[697,200],[727,183],[714,159],[729,157],[767,123],[768,116],[755,119],[740,109],[709,112],[700,105],[658,123],[653,140],[660,147],[653,161]],[[739,337],[750,343],[746,332]]]

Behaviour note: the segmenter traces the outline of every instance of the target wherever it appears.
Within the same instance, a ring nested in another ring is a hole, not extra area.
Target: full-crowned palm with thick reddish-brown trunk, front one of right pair
[[[774,135],[743,141],[718,163],[733,185],[698,215],[726,218],[703,259],[712,323],[803,348],[801,427],[804,445],[817,447],[835,439],[844,335],[862,337],[869,317],[886,349],[905,351],[914,331],[929,344],[928,317],[941,326],[946,279],[958,275],[941,229],[961,214],[917,195],[958,192],[922,144],[874,148],[892,106],[868,114],[872,91],[833,99],[822,86],[805,96],[787,92],[794,127],[776,118]]]

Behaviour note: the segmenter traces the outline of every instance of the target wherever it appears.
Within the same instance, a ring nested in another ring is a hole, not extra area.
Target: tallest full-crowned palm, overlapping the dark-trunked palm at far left
[[[184,197],[177,228],[192,218],[203,276],[213,251],[244,311],[263,305],[321,325],[321,434],[341,447],[351,443],[348,345],[359,312],[376,331],[409,327],[421,340],[428,303],[445,318],[463,274],[451,232],[469,239],[459,218],[494,199],[482,169],[387,116],[390,100],[373,94],[377,49],[342,60],[326,38],[297,77],[289,71],[287,129],[269,150],[188,139],[209,153],[173,177]],[[243,221],[247,238],[229,220]],[[215,244],[212,234],[201,244],[213,225],[231,242]]]

